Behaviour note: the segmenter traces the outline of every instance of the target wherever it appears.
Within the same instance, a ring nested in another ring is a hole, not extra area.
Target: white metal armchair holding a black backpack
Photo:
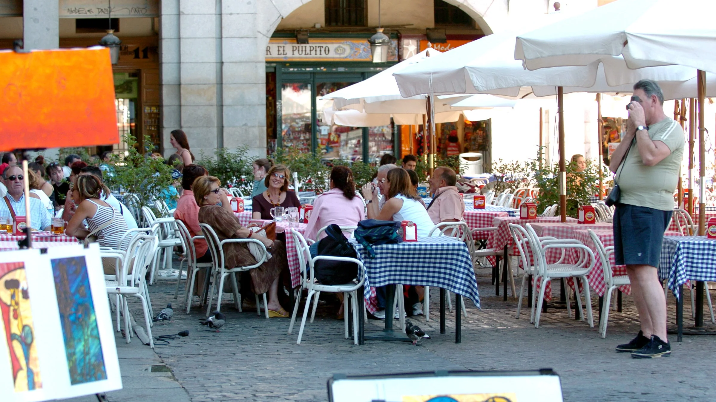
[[[304,335],[304,327],[306,326],[306,318],[309,315],[309,307],[311,305],[311,298],[315,296],[315,300],[318,300],[318,294],[320,292],[331,292],[331,293],[343,293],[343,308],[344,308],[344,336],[349,338],[348,334],[348,298],[351,298],[352,306],[352,317],[353,317],[353,343],[358,344],[358,303],[363,303],[363,295],[358,295],[357,290],[363,285],[364,282],[364,268],[363,263],[355,258],[347,257],[334,257],[330,255],[316,255],[311,258],[311,252],[309,251],[309,245],[306,243],[301,233],[295,229],[291,229],[291,236],[294,237],[294,245],[296,245],[296,254],[299,258],[299,266],[301,267],[301,287],[299,288],[299,296],[301,291],[306,288],[309,293],[306,297],[306,305],[304,307],[304,316],[301,318],[301,328],[299,328],[299,338],[296,340],[296,345],[301,344],[301,338]],[[316,283],[314,265],[319,260],[330,260],[330,261],[342,261],[344,263],[356,263],[358,265],[358,276],[359,280],[346,283],[343,285],[322,285]],[[307,265],[307,270],[306,270]],[[294,303],[294,312],[291,315],[291,324],[289,324],[289,335],[294,330],[294,323],[296,322],[296,315],[299,312],[299,300]],[[314,314],[316,313],[316,302],[314,302],[314,312],[311,314],[311,323],[314,320]],[[387,316],[386,319],[392,317]],[[403,324],[404,325],[404,324]]]

